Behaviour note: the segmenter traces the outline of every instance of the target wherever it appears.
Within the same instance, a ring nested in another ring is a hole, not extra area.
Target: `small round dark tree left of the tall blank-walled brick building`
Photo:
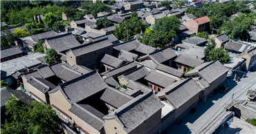
[[[46,50],[46,56],[44,57],[46,64],[51,65],[55,64],[57,61],[60,61],[60,57],[57,54],[57,51],[53,48]]]

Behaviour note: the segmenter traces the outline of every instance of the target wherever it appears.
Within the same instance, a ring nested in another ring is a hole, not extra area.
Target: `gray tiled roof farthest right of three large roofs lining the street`
[[[193,70],[190,70],[190,72],[185,73],[185,76],[199,74],[208,82],[208,84],[210,84],[227,72],[228,68],[223,66],[218,60],[215,60],[197,66]]]

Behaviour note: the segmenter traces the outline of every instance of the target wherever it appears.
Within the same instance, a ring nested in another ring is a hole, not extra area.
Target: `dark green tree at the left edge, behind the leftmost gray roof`
[[[3,35],[1,35],[1,48],[8,48],[10,46],[15,46],[15,37],[10,33],[10,30],[3,30]]]

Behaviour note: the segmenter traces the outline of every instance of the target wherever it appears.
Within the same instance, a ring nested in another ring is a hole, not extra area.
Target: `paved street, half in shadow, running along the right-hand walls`
[[[208,97],[205,103],[197,105],[196,113],[188,113],[183,118],[182,124],[173,124],[167,129],[167,133],[200,133],[201,128],[210,124],[223,112],[224,106],[232,102],[232,99],[245,99],[247,90],[256,88],[256,73],[248,73],[240,82],[226,82],[230,90],[226,94],[218,93],[215,97]],[[233,95],[234,94],[234,95]]]

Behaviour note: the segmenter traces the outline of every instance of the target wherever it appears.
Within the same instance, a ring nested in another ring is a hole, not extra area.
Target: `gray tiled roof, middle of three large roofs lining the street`
[[[188,102],[194,95],[201,92],[202,88],[190,77],[183,79],[179,84],[172,84],[165,89],[166,98],[176,107],[179,108]]]

